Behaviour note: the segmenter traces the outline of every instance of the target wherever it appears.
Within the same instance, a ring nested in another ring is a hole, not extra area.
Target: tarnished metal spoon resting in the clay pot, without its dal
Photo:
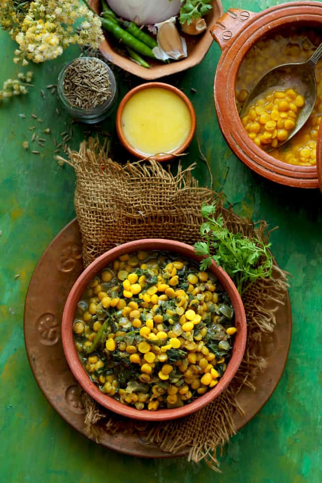
[[[285,141],[278,144],[278,148],[289,141],[294,134],[296,134],[303,124],[306,123],[310,117],[315,103],[317,101],[317,80],[315,77],[315,67],[322,57],[322,44],[315,50],[314,54],[305,62],[282,64],[269,70],[256,84],[252,92],[246,99],[243,108],[240,112],[240,117],[243,117],[249,106],[254,104],[257,98],[262,97],[263,93],[268,89],[285,90],[294,88],[305,99],[304,107],[299,113],[294,129],[289,133]],[[272,147],[266,149],[268,153]]]

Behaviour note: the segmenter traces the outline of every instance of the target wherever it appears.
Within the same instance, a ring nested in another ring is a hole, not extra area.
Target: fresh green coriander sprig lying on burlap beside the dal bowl
[[[231,233],[221,215],[215,218],[216,205],[203,204],[201,213],[206,219],[200,226],[205,241],[195,243],[197,255],[204,256],[202,270],[210,267],[212,260],[233,279],[240,294],[244,293],[258,278],[271,277],[272,257],[265,244],[257,238],[250,240],[241,233]],[[214,255],[211,253],[214,252]]]

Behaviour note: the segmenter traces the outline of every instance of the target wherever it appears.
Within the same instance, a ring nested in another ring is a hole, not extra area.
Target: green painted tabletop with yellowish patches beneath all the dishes
[[[243,3],[243,4],[242,4]],[[233,4],[259,11],[273,4],[238,1]],[[224,8],[231,6],[227,1]],[[15,44],[0,32],[0,82],[15,77],[12,63]],[[237,213],[254,220],[264,218],[270,227],[272,250],[291,278],[293,337],[277,389],[260,413],[225,448],[221,474],[204,463],[185,458],[145,460],[102,448],[80,436],[52,409],[39,390],[28,365],[23,340],[23,306],[32,271],[45,248],[73,218],[75,176],[53,159],[48,140],[43,155],[24,151],[30,139],[28,126],[37,125],[35,113],[52,135],[69,127],[58,117],[55,96],[40,90],[55,83],[63,64],[78,55],[71,48],[44,65],[31,65],[35,88],[26,97],[0,106],[0,482],[115,482],[115,483],[320,483],[321,446],[321,313],[322,313],[322,215],[318,190],[287,188],[253,173],[232,155],[215,117],[213,80],[220,55],[213,45],[204,62],[171,82],[185,89],[197,113],[197,133],[209,159],[214,188],[222,190]],[[119,99],[129,83],[119,78]],[[132,85],[137,81],[131,80]],[[193,94],[190,87],[197,89]],[[19,117],[25,113],[26,119]],[[113,119],[103,123],[113,133]],[[74,128],[77,148],[88,128]],[[34,148],[36,149],[36,147]],[[193,141],[184,165],[198,161]],[[206,165],[195,171],[202,184],[208,180]],[[20,274],[18,279],[15,275]],[[256,397],[256,394],[254,394]]]

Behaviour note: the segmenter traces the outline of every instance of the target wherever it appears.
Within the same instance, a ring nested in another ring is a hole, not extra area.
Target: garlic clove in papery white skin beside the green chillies
[[[175,26],[175,17],[157,23],[155,26],[158,28],[158,47],[153,49],[153,53],[158,59],[178,60],[187,56],[187,44],[185,39],[179,35]]]

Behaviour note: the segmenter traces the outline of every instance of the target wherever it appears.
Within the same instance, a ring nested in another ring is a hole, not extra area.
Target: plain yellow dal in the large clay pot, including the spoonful
[[[245,55],[238,71],[238,110],[268,70],[280,64],[307,60],[321,42],[321,31],[309,28],[280,30],[257,42]],[[293,86],[290,86],[289,91],[263,93],[262,102],[257,106],[258,112],[253,109],[254,112],[251,115],[248,112],[248,118],[245,116],[242,120],[247,134],[257,146],[262,149],[276,148],[269,155],[277,160],[302,166],[313,166],[317,162],[317,138],[322,117],[322,60],[318,62],[315,73],[318,96],[313,112],[299,132],[280,148],[278,143],[285,140],[294,129],[298,111],[305,103],[305,99],[296,93]]]

